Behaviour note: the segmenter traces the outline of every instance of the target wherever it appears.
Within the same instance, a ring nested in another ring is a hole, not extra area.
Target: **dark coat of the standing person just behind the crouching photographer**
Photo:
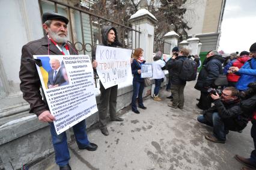
[[[223,73],[222,63],[224,62],[222,55],[213,55],[206,58],[203,62],[203,67],[198,75],[195,89],[207,92],[209,87],[214,87],[213,82],[219,74]]]

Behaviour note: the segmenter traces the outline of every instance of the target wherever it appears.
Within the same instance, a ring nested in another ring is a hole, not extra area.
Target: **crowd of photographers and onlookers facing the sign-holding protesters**
[[[166,91],[171,91],[171,96],[167,97],[171,99],[168,106],[183,109],[184,87],[187,81],[183,73],[186,69],[184,62],[194,61],[197,67],[200,67],[201,62],[198,56],[193,56],[192,59],[187,49],[179,50],[174,47],[171,55],[168,61],[162,59],[161,52],[154,56],[153,100],[161,101],[159,87],[163,81],[163,70],[168,70]],[[219,85],[217,82],[223,84]],[[231,53],[226,58],[218,51],[210,50],[202,63],[195,89],[201,92],[196,106],[202,112],[197,120],[213,127],[213,134],[205,136],[207,140],[225,144],[226,135],[230,130],[242,133],[251,121],[251,136],[256,148],[256,43],[251,45],[249,52]],[[242,169],[256,169],[256,150],[251,152],[248,159],[239,155],[234,157],[246,165]]]

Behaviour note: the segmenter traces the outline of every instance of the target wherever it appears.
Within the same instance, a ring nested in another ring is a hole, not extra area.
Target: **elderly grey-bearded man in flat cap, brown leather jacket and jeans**
[[[45,99],[40,94],[40,78],[33,60],[33,55],[77,55],[75,48],[67,43],[67,24],[69,20],[58,13],[44,13],[42,16],[43,28],[46,36],[40,40],[31,41],[22,47],[20,65],[20,90],[23,98],[30,105],[30,113],[37,115],[38,120],[50,124],[52,144],[55,150],[55,161],[59,169],[71,169],[69,165],[69,149],[67,146],[66,132],[57,135],[53,121],[55,117],[50,114]],[[44,95],[43,95],[44,96]],[[95,151],[97,145],[90,143],[87,138],[85,120],[73,126],[78,148],[81,150]]]

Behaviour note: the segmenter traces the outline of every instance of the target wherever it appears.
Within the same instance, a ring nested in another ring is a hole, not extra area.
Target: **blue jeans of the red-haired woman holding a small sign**
[[[143,100],[142,100],[142,94],[144,90],[144,82],[138,82],[136,80],[132,81],[133,85],[133,94],[132,94],[132,111],[137,111],[137,106],[136,106],[136,98],[138,96],[138,105],[139,106],[144,106],[143,105]]]

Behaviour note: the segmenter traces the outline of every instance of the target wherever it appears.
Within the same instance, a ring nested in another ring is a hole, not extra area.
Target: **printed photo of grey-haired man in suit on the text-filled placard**
[[[69,77],[62,58],[39,56],[42,67],[40,67],[41,74],[46,89],[61,87],[69,85]]]

